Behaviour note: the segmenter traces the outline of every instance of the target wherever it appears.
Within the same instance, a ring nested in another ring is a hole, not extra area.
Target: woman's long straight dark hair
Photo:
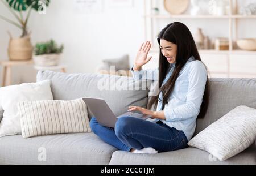
[[[173,44],[177,45],[177,54],[176,54],[176,63],[174,67],[174,71],[172,72],[172,75],[167,80],[166,84],[164,84],[162,87],[163,80],[167,74],[168,66],[170,63],[167,61],[166,57],[161,52],[161,49],[159,48],[159,92],[158,95],[153,96],[150,98],[150,101],[148,102],[148,107],[152,108],[154,105],[154,108],[156,108],[158,99],[159,99],[159,93],[163,92],[163,100],[162,100],[162,110],[164,109],[164,106],[168,104],[168,99],[174,89],[175,82],[177,80],[177,77],[179,76],[179,73],[181,69],[184,67],[185,63],[188,61],[188,59],[193,56],[196,60],[201,61],[199,52],[197,51],[195,41],[193,40],[192,34],[189,31],[188,27],[180,22],[174,22],[168,24],[165,28],[162,29],[162,31],[159,33],[158,36],[158,43],[160,45],[160,39],[164,39],[166,41],[172,42]],[[207,67],[205,66],[205,69]],[[207,82],[205,85],[205,91],[203,96],[203,102],[200,107],[200,113],[197,116],[198,118],[203,118],[208,107],[209,103],[209,88],[208,88],[208,77]]]

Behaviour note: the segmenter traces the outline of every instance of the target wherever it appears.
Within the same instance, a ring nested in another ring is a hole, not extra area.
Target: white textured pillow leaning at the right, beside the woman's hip
[[[256,109],[237,106],[192,138],[188,145],[224,161],[249,147],[256,137]]]

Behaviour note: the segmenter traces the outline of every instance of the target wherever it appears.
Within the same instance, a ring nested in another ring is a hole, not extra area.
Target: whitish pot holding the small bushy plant
[[[34,55],[33,60],[36,66],[48,67],[57,66],[60,63],[61,54]]]

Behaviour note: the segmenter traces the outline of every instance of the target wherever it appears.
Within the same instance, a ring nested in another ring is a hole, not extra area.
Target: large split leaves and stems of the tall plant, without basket
[[[42,12],[49,5],[50,0],[0,0],[18,20],[18,23],[0,15],[0,18],[22,29],[22,36],[28,35],[27,22],[31,10]],[[26,18],[24,18],[26,15]]]

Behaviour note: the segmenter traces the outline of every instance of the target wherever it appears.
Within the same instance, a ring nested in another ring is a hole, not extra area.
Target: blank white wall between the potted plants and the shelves
[[[134,56],[143,40],[143,3],[134,2],[134,7],[112,11],[104,3],[103,12],[86,14],[73,11],[71,0],[53,0],[46,15],[32,19],[32,39],[64,43],[63,62],[69,72],[94,72],[104,58]]]

